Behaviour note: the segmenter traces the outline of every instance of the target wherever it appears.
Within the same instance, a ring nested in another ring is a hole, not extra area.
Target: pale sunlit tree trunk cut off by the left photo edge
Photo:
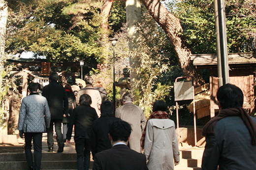
[[[5,0],[0,0],[0,58],[4,56],[7,15],[8,15],[7,9],[8,9],[7,2]]]

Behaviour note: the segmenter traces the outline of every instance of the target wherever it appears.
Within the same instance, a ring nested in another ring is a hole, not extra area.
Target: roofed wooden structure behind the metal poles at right
[[[216,99],[216,94],[218,91],[217,55],[215,54],[192,55],[191,59],[193,61],[193,65],[196,68],[209,69],[210,71],[210,83],[209,83],[210,96],[207,97],[206,95],[206,98],[198,99],[199,103],[201,100],[206,100],[206,102],[201,102],[203,105],[196,108],[197,117],[200,118],[207,115],[214,117],[215,113],[218,112],[219,110],[219,107],[217,105],[217,99]],[[241,88],[241,90],[244,93],[243,107],[247,109],[249,113],[251,113],[251,115],[254,116],[256,54],[255,53],[228,54],[228,65],[229,65],[230,84],[236,85]],[[201,91],[205,93],[205,91],[207,91],[207,88]]]

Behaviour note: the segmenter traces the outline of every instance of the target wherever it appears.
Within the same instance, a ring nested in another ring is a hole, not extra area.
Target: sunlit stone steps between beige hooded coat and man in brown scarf
[[[204,148],[180,147],[180,164],[174,170],[201,170]]]

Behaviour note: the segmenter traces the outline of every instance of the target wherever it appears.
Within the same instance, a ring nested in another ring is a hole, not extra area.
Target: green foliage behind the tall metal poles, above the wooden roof
[[[252,0],[229,0],[225,4],[227,46],[229,53],[253,52],[256,15]],[[216,53],[213,0],[174,0],[169,10],[180,20],[181,33],[192,54]],[[254,32],[254,34],[253,34]]]

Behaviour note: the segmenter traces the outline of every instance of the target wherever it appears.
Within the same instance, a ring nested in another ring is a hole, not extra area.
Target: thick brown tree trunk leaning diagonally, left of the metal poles
[[[179,32],[183,31],[180,20],[167,11],[167,9],[160,3],[160,0],[142,0],[142,2],[148,9],[150,15],[169,37],[184,75],[192,76],[195,86],[203,85],[205,82],[190,59],[192,53],[190,49],[184,45],[179,34]]]

